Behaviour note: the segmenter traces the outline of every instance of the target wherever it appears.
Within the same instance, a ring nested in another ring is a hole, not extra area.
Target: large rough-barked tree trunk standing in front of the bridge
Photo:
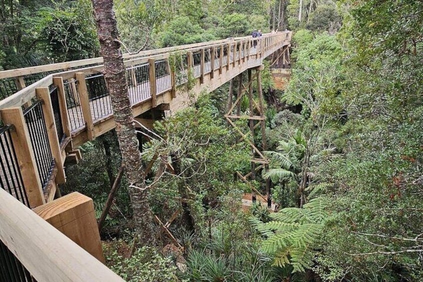
[[[92,0],[100,51],[104,60],[104,77],[110,95],[116,133],[122,154],[122,164],[130,183],[131,200],[135,228],[142,244],[155,244],[152,216],[147,202],[147,192],[142,175],[141,156],[138,151],[133,115],[125,80],[116,19],[112,10],[112,0]]]

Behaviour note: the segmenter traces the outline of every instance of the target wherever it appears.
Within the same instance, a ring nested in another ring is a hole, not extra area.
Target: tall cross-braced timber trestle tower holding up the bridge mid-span
[[[254,144],[254,136],[257,128],[260,127],[261,130],[261,149],[265,151],[267,149],[266,144],[266,127],[265,127],[265,115],[264,115],[264,105],[263,105],[263,93],[261,88],[261,70],[263,70],[263,66],[259,66],[255,68],[254,74],[252,74],[252,69],[247,70],[248,74],[248,83],[245,86],[242,83],[242,73],[237,76],[237,93],[236,93],[236,100],[232,103],[232,94],[233,94],[233,81],[230,81],[229,85],[229,97],[228,97],[228,110],[227,113],[224,115],[227,122],[237,131],[240,135],[240,140],[245,140],[251,149],[251,171],[246,174],[242,175],[239,171],[236,172],[237,176],[245,182],[252,191],[252,202],[255,202],[256,196],[258,194],[264,201],[267,202],[267,207],[271,207],[271,199],[270,199],[270,180],[267,179],[265,182],[266,186],[266,196],[264,197],[255,187],[248,181],[248,178],[253,181],[256,179],[256,173],[258,171],[266,171],[268,170],[268,160],[262,154],[262,152],[255,146]],[[256,79],[256,94],[258,98],[258,105],[254,100],[253,96],[253,80]],[[241,99],[246,95],[249,100],[249,115],[241,115]],[[236,107],[236,114],[233,113]],[[257,115],[258,113],[258,115]],[[248,120],[249,124],[249,131],[252,138],[248,136],[248,132],[242,132],[242,130],[235,125],[232,121],[234,119],[246,119]],[[257,165],[258,164],[258,165]]]

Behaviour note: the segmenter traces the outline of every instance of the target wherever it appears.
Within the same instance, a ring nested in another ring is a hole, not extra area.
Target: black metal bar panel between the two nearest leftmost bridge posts
[[[28,128],[41,186],[44,189],[54,168],[54,159],[51,155],[41,103],[41,100],[33,103],[23,112],[23,117]]]

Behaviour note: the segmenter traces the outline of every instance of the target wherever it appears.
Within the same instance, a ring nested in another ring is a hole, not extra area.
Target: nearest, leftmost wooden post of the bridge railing
[[[39,179],[28,129],[23,118],[22,108],[1,110],[1,117],[4,124],[12,124],[14,127],[10,132],[10,136],[16,152],[20,174],[22,175],[23,186],[28,196],[29,206],[35,208],[45,204],[41,181]]]

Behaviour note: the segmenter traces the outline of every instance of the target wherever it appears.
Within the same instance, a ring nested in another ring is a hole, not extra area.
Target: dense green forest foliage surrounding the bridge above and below
[[[0,0],[0,69],[98,55],[88,0],[34,2]],[[101,232],[114,238],[104,248],[112,270],[128,281],[421,280],[421,1],[115,0],[114,7],[124,51],[253,29],[294,35],[286,89],[271,89],[269,62],[262,71],[270,169],[253,185],[271,181],[279,212],[242,211],[240,198],[251,191],[234,173],[249,171],[250,152],[222,118],[223,85],[140,133],[145,167],[154,163],[151,212],[172,219],[175,239],[159,235],[160,248],[137,248],[123,178]],[[248,113],[246,99],[240,110]],[[247,128],[243,120],[237,126]],[[99,216],[120,166],[115,133],[80,149],[83,159],[66,168],[61,190],[93,198]],[[178,244],[183,251],[164,251]]]

